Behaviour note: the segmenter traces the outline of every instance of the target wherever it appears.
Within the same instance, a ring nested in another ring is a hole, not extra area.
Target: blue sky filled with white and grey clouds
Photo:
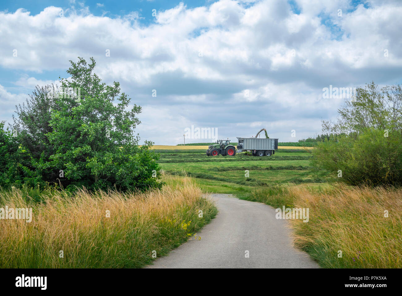
[[[295,142],[343,104],[323,88],[402,80],[398,0],[39,3],[0,3],[0,120],[35,85],[67,78],[78,56],[121,83],[143,108],[136,132],[160,145],[182,143],[192,125],[231,140],[265,127]]]

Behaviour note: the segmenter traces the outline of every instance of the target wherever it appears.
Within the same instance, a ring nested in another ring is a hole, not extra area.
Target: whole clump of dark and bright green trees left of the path
[[[118,82],[101,82],[93,58],[70,62],[71,78],[62,78],[61,87],[37,86],[16,106],[14,135],[1,129],[0,185],[160,188],[153,143],[139,146],[134,133],[141,107],[130,107]]]

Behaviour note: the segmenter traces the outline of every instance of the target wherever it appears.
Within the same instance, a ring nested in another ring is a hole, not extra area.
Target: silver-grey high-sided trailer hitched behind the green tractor
[[[278,149],[278,139],[239,138],[237,137],[237,151],[250,151],[253,156],[271,156]]]

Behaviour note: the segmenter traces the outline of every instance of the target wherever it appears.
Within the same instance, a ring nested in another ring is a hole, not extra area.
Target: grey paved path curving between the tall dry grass
[[[293,247],[286,220],[263,203],[211,194],[219,213],[197,236],[147,268],[318,268]],[[245,252],[249,257],[245,257]]]

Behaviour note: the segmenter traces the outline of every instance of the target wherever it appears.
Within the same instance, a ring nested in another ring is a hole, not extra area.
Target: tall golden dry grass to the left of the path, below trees
[[[16,189],[0,192],[0,208],[33,208],[31,223],[0,220],[0,267],[115,268],[150,263],[152,251],[158,257],[166,254],[217,212],[191,179],[164,179],[161,190],[146,193],[81,189],[72,197],[65,192],[44,196],[43,203]]]

